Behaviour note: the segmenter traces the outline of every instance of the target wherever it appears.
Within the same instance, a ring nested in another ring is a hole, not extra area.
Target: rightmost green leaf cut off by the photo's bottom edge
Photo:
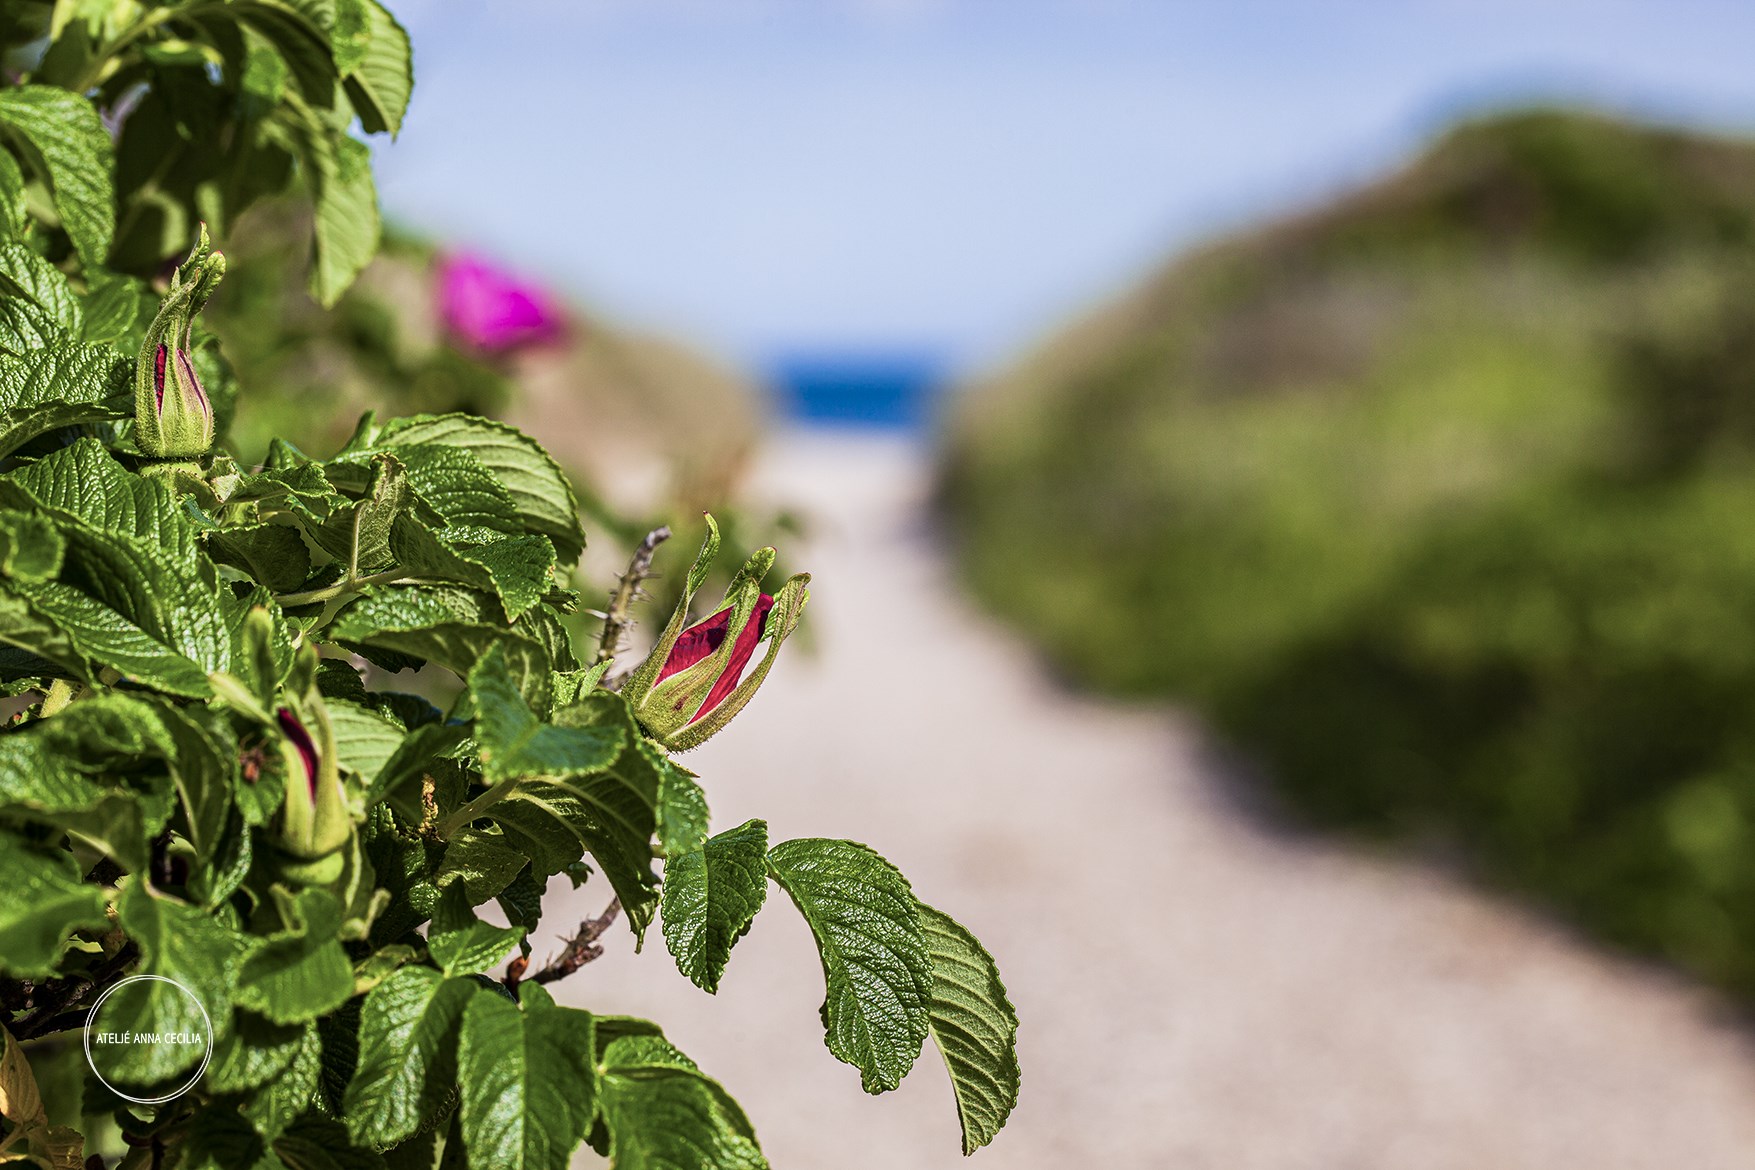
[[[616,1170],[767,1170],[744,1110],[662,1037],[612,1040],[598,1095]]]

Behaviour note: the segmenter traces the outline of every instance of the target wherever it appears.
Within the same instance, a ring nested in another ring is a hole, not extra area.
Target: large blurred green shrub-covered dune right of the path
[[[1292,809],[1755,993],[1755,146],[1460,126],[956,403],[974,589]]]

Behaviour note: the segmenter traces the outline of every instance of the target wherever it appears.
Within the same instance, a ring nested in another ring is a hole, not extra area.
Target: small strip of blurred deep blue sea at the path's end
[[[793,354],[769,367],[781,414],[806,426],[923,430],[946,379],[941,358],[906,353]]]

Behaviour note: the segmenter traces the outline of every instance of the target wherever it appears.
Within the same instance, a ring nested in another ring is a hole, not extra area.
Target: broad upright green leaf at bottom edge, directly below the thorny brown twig
[[[535,982],[463,1010],[460,1123],[470,1170],[567,1170],[597,1103],[591,1016]]]

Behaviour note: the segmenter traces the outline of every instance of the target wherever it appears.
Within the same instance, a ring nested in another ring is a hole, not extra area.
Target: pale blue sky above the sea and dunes
[[[1004,358],[1527,96],[1755,130],[1755,4],[391,0],[386,210],[728,358]]]

